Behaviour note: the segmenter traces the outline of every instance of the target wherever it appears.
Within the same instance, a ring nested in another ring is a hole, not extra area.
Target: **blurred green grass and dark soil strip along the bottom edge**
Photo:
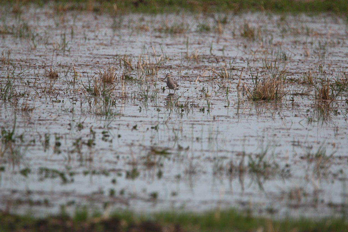
[[[2,231],[282,231],[326,232],[347,231],[348,222],[342,218],[321,219],[271,219],[255,217],[231,210],[216,210],[206,213],[160,212],[134,214],[120,211],[108,216],[101,213],[89,215],[86,209],[66,214],[34,218],[31,214],[10,215],[0,213]]]

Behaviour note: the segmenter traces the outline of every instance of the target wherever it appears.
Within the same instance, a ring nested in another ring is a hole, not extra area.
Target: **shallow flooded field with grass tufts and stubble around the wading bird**
[[[346,215],[346,19],[2,9],[0,36],[0,210]]]

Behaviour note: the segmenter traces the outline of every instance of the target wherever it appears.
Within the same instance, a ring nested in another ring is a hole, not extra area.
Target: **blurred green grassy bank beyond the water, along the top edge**
[[[348,15],[347,0],[0,0],[0,5],[10,5],[13,11],[20,11],[24,5],[34,3],[49,5],[57,10],[117,11],[119,13],[166,13],[187,10],[192,12],[273,11],[276,13],[323,12]]]

